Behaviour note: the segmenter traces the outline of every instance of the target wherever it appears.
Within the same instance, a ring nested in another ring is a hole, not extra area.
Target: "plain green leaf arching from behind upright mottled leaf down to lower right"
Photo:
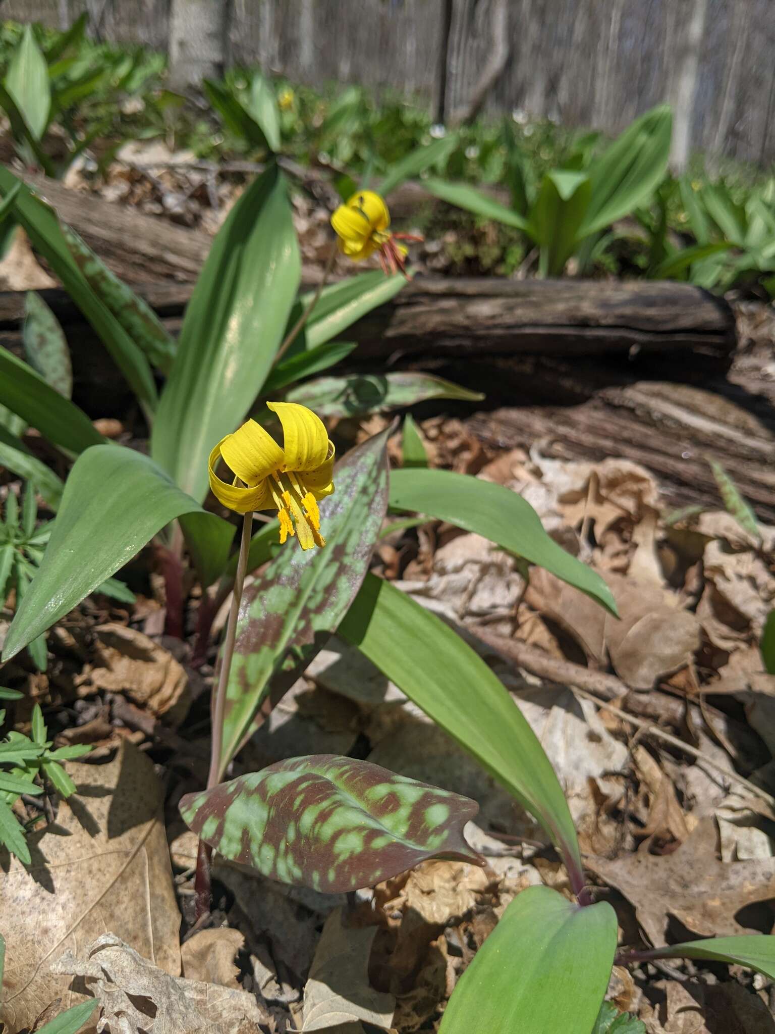
[[[530,811],[568,868],[581,874],[574,820],[554,768],[500,679],[468,643],[372,574],[338,635],[358,646]]]

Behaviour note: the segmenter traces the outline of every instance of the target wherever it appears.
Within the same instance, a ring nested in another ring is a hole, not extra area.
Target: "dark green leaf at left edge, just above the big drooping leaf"
[[[104,440],[83,409],[5,348],[0,348],[0,402],[70,452],[80,453]]]

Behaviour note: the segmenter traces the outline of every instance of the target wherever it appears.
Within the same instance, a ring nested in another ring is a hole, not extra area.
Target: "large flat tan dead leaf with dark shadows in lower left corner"
[[[114,931],[157,966],[180,973],[180,913],[161,814],[161,786],[149,759],[122,744],[110,764],[68,763],[79,788],[57,821],[30,835],[32,863],[0,871],[0,927],[6,943],[2,1020],[32,1027],[55,998],[84,1000],[50,971]]]

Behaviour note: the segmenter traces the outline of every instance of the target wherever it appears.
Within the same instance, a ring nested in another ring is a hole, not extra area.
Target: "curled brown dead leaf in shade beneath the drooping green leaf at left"
[[[82,690],[124,693],[153,714],[180,722],[190,703],[188,675],[169,650],[136,629],[100,625],[94,630],[94,663],[84,668]]]

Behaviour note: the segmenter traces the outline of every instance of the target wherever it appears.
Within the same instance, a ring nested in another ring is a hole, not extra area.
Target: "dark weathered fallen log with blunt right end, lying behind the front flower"
[[[173,328],[188,283],[138,285]],[[80,316],[63,292],[42,293],[64,325]],[[0,330],[20,320],[23,300],[0,294]],[[699,287],[670,281],[497,280],[417,277],[386,305],[347,329],[359,360],[405,355],[590,356],[688,349],[709,371],[729,362],[736,342],[731,307]],[[78,346],[78,345],[75,345]]]

